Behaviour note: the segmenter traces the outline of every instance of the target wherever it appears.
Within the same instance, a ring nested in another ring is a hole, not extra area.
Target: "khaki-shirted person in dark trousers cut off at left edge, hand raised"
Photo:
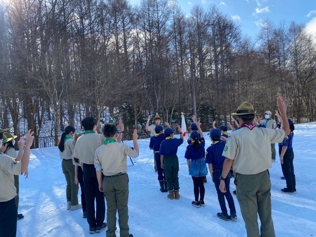
[[[0,130],[0,147],[2,146],[3,132]],[[0,153],[0,237],[15,237],[17,222],[17,207],[15,205],[16,188],[14,175],[21,175],[28,171],[30,148],[33,144],[33,132],[28,131],[26,141],[22,136],[19,140],[19,153],[11,158]]]

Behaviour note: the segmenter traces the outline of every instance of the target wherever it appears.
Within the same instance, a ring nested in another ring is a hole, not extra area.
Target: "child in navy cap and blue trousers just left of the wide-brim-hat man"
[[[237,220],[235,202],[230,192],[230,172],[228,173],[227,179],[225,180],[226,193],[222,193],[219,189],[225,160],[225,157],[222,156],[222,153],[224,151],[226,141],[221,140],[221,131],[215,128],[210,130],[210,139],[212,141],[212,145],[206,149],[205,162],[208,164],[208,169],[211,174],[212,181],[214,182],[219,205],[222,211],[217,213],[217,216],[225,221]],[[230,215],[228,215],[226,208],[225,197],[230,209]]]

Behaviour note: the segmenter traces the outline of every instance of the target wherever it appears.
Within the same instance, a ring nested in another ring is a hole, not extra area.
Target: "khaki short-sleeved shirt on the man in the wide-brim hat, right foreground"
[[[242,127],[228,136],[222,155],[234,160],[234,172],[258,174],[272,167],[270,144],[282,142],[284,136],[282,129]]]

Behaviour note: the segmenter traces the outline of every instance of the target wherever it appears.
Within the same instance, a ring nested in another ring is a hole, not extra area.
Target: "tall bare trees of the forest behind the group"
[[[316,36],[266,19],[252,39],[214,4],[1,1],[0,82],[0,127],[34,130],[35,147],[45,122],[56,139],[77,115],[99,130],[110,116],[180,123],[194,102],[202,123],[227,124],[242,102],[263,115],[283,95],[289,118],[315,121]]]

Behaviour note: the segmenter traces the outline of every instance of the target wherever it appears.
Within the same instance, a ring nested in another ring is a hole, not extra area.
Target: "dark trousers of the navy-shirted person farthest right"
[[[279,155],[281,155],[281,149],[278,150]],[[286,180],[286,188],[288,190],[296,189],[296,179],[294,174],[294,153],[293,149],[286,149],[283,156],[283,164],[281,164],[282,172]]]

